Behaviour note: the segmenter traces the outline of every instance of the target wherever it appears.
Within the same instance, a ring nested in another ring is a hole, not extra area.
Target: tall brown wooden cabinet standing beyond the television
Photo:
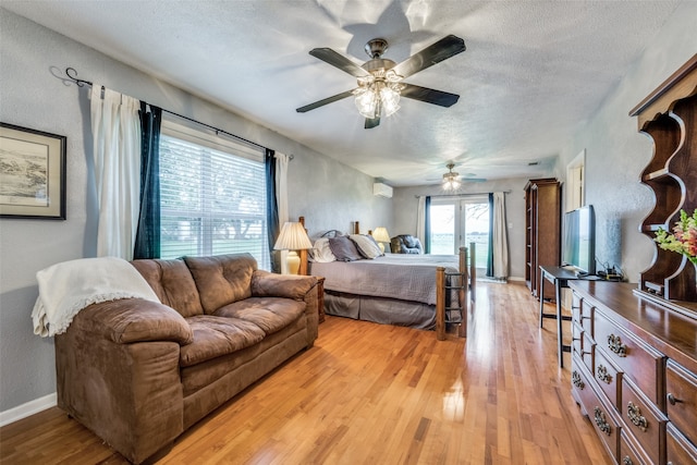
[[[540,298],[540,266],[561,265],[562,189],[554,178],[530,180],[525,185],[525,283]],[[554,299],[554,290],[541,297]]]

